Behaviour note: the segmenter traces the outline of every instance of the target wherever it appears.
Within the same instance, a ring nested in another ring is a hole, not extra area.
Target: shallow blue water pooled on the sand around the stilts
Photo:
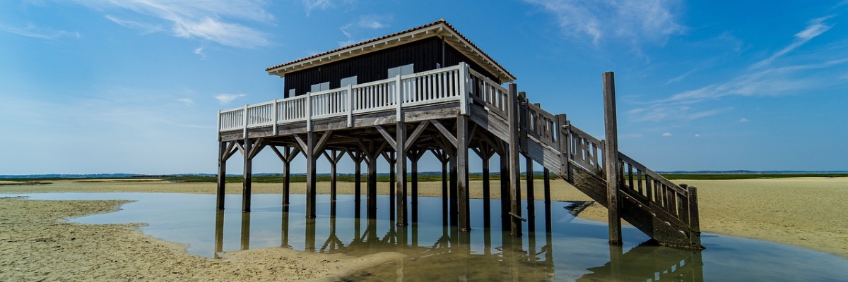
[[[11,196],[11,195],[8,195]],[[229,209],[215,211],[215,195],[170,193],[31,194],[44,200],[127,199],[116,213],[74,218],[72,222],[142,222],[145,234],[187,246],[204,257],[248,248],[287,247],[298,251],[354,256],[402,252],[403,261],[353,274],[349,280],[639,280],[639,281],[848,281],[848,260],[831,254],[724,235],[703,234],[706,250],[689,252],[642,244],[648,237],[625,227],[623,246],[607,243],[605,224],[573,217],[572,202],[536,202],[522,237],[501,231],[498,200],[484,219],[483,200],[471,199],[471,232],[444,227],[440,198],[419,198],[417,224],[394,224],[391,199],[377,197],[376,218],[366,218],[354,196],[331,202],[318,195],[317,217],[305,218],[304,195],[292,195],[289,213],[282,196],[253,197],[253,212],[242,213],[241,196],[228,195]],[[527,207],[526,202],[522,207]],[[334,215],[334,216],[332,216]],[[411,216],[411,214],[410,214]],[[550,218],[550,219],[549,219]],[[532,223],[532,224],[531,224]],[[550,229],[550,232],[547,230]]]

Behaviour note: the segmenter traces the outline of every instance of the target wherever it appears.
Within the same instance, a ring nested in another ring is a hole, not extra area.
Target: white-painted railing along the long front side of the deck
[[[482,77],[482,75],[477,74]],[[467,110],[468,95],[461,95],[470,81],[467,64],[435,69],[412,75],[399,75],[329,91],[310,92],[298,97],[276,99],[218,113],[218,132],[273,127],[315,119],[347,116],[352,124],[354,114],[460,101],[462,113]],[[501,87],[503,88],[503,87]]]

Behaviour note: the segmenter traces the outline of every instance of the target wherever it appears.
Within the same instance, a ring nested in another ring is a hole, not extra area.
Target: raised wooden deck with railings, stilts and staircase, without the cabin
[[[218,129],[220,209],[224,208],[226,160],[235,152],[243,153],[243,211],[248,212],[251,159],[271,147],[285,164],[284,174],[298,154],[306,158],[308,217],[315,216],[317,158],[330,160],[332,175],[344,154],[356,163],[356,175],[360,175],[361,163],[368,165],[369,218],[372,211],[376,213],[376,161],[386,158],[392,163],[392,174],[396,172],[399,179],[392,191],[399,195],[396,222],[405,225],[409,222],[405,211],[409,180],[411,208],[416,209],[417,161],[432,152],[443,163],[445,180],[449,178],[443,193],[444,201],[450,201],[451,222],[467,230],[467,162],[471,149],[484,161],[484,177],[488,176],[488,159],[494,154],[500,156],[504,180],[499,188],[502,203],[509,205],[503,210],[510,211],[503,216],[510,220],[513,235],[521,233],[518,158],[522,155],[531,174],[533,162],[539,163],[545,172],[559,175],[610,208],[611,223],[623,218],[662,244],[701,247],[695,187],[675,185],[621,152],[608,154],[617,158],[615,163],[606,163],[609,144],[605,141],[578,129],[565,114],[544,111],[523,92],[517,92],[515,84],[507,89],[466,64],[220,111]],[[397,159],[409,159],[410,168],[407,162],[395,162]],[[612,179],[617,184],[607,185],[607,171],[611,169],[606,165],[615,168],[616,178]],[[358,198],[360,187],[356,183]],[[483,184],[483,194],[488,196],[488,181]],[[533,202],[532,183],[528,184],[523,189],[527,190],[528,202]],[[284,184],[284,205],[288,203],[287,187]],[[334,189],[332,194],[334,199]],[[613,225],[611,242],[615,243],[613,231],[620,227]]]

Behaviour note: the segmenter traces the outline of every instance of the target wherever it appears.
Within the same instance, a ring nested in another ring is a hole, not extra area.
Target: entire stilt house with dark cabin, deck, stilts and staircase
[[[249,212],[252,159],[270,147],[284,164],[285,207],[293,158],[306,158],[306,215],[314,218],[316,161],[324,156],[331,165],[335,200],[336,166],[348,155],[354,161],[357,203],[360,167],[367,166],[366,210],[368,218],[374,218],[377,160],[382,157],[390,163],[390,174],[398,174],[398,181],[391,181],[390,196],[397,194],[396,222],[404,226],[409,222],[408,209],[418,208],[417,162],[432,152],[442,162],[443,201],[449,202],[450,223],[467,231],[469,190],[482,189],[488,199],[489,159],[498,154],[500,210],[505,211],[501,218],[510,223],[512,235],[521,235],[522,196],[528,210],[535,208],[533,181],[522,185],[523,156],[528,174],[538,163],[545,179],[557,174],[610,207],[612,243],[621,242],[621,219],[625,219],[663,244],[700,248],[695,187],[676,185],[617,151],[615,130],[609,130],[616,127],[614,102],[605,104],[611,106],[605,107],[611,108],[605,119],[612,120],[607,123],[607,140],[594,138],[572,125],[565,114],[548,113],[530,102],[516,84],[504,87],[515,76],[444,19],[266,70],[285,78],[285,98],[219,112],[219,209],[224,208],[226,160],[242,152],[242,208]],[[614,101],[612,74],[604,78],[605,100],[609,94]],[[483,160],[483,187],[469,186],[469,150]],[[545,185],[546,198],[549,189]],[[490,210],[483,208],[484,213]],[[412,214],[415,221],[416,213]]]

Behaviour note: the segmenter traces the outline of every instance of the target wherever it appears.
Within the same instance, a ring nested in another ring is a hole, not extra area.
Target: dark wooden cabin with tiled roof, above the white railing
[[[286,79],[286,97],[465,62],[498,84],[516,78],[444,20],[265,69]]]

